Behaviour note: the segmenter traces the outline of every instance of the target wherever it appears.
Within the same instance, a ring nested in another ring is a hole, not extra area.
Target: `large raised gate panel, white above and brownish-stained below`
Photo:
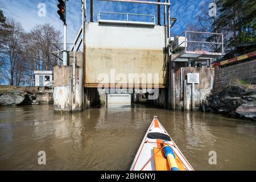
[[[86,23],[87,87],[97,86],[97,77],[110,69],[115,75],[125,73],[158,73],[159,85],[164,86],[164,27],[139,27],[128,25],[103,25]],[[154,83],[154,80],[153,80]]]

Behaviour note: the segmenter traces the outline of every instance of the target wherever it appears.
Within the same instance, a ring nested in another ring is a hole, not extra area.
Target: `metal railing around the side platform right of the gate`
[[[187,51],[207,51],[207,52],[216,52],[224,54],[224,43],[223,43],[223,34],[212,33],[212,32],[197,32],[197,31],[184,31],[181,32],[179,36],[174,38],[176,39],[184,37],[184,41],[181,42],[178,46],[172,50],[176,51],[182,44],[184,46],[184,52]],[[214,42],[212,42],[212,40]]]

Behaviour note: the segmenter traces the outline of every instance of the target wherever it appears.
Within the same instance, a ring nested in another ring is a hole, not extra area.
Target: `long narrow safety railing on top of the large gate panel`
[[[98,22],[155,25],[155,15],[99,12]]]

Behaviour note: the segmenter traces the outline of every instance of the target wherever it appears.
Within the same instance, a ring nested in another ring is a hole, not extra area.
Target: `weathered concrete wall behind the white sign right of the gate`
[[[199,73],[200,83],[195,84],[193,99],[195,109],[199,109],[201,102],[210,93],[213,87],[214,71],[212,68],[184,67],[172,69],[174,73],[174,97],[172,96],[172,78],[170,79],[170,89],[168,90],[168,109],[175,107],[176,110],[191,110],[192,106],[192,84],[187,84],[187,73]],[[174,99],[175,106],[172,106]]]

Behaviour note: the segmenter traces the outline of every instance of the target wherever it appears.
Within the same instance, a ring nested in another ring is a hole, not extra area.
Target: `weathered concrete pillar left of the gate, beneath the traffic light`
[[[71,66],[55,66],[53,104],[56,111],[82,110],[82,75],[81,68],[76,67],[75,93],[73,93]]]

